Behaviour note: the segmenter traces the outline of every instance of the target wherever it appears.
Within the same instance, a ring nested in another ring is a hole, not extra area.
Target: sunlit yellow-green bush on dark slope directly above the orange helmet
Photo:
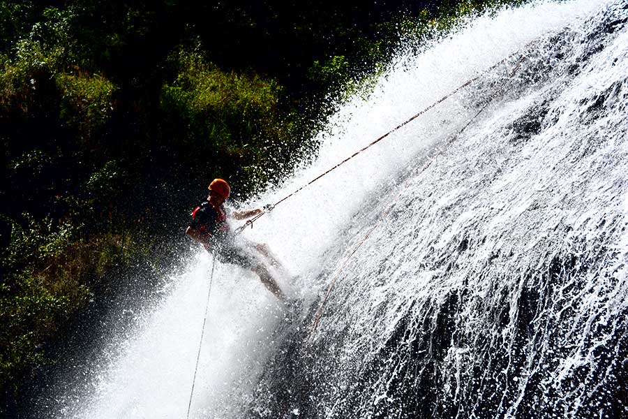
[[[169,63],[176,77],[163,85],[160,106],[173,125],[185,127],[177,139],[194,147],[189,159],[205,159],[199,163],[231,173],[235,182],[246,179],[248,191],[282,169],[285,156],[271,160],[269,149],[290,147],[294,140],[291,124],[280,122],[282,91],[274,80],[222,71],[200,52],[179,50]],[[208,156],[216,159],[207,161]]]

